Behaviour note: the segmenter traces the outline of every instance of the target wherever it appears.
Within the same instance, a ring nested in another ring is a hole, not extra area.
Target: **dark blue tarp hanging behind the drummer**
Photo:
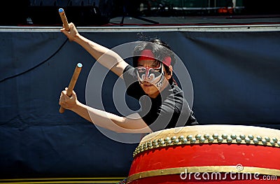
[[[136,31],[80,32],[108,48],[137,41]],[[280,129],[280,31],[146,31],[169,43],[193,82],[193,111],[201,125]],[[57,31],[0,32],[0,177],[127,176],[137,143],[104,136],[71,111],[59,113],[59,94],[78,62],[76,83],[85,103],[95,60]],[[176,68],[174,69],[176,70]],[[104,83],[113,105],[116,76]],[[130,100],[127,101],[130,103]]]

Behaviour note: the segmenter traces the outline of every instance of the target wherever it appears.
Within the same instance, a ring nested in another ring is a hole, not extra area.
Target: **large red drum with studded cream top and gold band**
[[[242,125],[177,127],[144,136],[127,183],[279,183],[280,130]]]

